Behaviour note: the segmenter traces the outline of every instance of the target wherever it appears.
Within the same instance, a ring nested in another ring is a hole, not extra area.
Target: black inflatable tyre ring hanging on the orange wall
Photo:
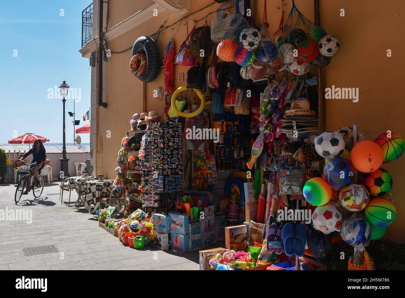
[[[160,54],[156,41],[149,36],[139,37],[132,46],[132,57],[139,53],[146,54],[146,69],[138,79],[145,83],[154,81],[160,71]]]

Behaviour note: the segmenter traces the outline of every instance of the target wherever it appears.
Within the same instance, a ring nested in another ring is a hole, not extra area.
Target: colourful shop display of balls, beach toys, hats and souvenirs
[[[130,119],[113,183],[124,204],[98,212],[100,226],[134,249],[199,251],[200,270],[324,270],[342,247],[345,268],[373,270],[368,245],[396,218],[384,164],[401,157],[403,138],[369,140],[356,124],[321,133],[316,74],[337,37],[294,0],[273,36],[266,1],[262,26],[234,4],[217,10],[206,44],[193,38],[207,25],[181,45],[187,86],[166,96],[164,116]],[[203,47],[211,59],[195,56]],[[139,77],[153,61],[136,55]]]

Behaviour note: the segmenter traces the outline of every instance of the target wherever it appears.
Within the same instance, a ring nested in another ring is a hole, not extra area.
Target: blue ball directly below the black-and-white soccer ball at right
[[[337,157],[326,163],[324,175],[333,189],[341,189],[341,187],[352,182],[354,167],[347,159]]]

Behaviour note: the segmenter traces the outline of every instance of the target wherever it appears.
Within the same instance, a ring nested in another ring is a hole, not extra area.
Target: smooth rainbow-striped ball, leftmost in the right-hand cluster
[[[332,188],[326,180],[315,177],[305,183],[303,189],[304,197],[313,206],[322,206],[330,201]]]

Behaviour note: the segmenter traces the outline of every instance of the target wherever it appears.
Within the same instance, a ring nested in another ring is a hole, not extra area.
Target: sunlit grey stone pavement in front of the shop
[[[0,209],[32,210],[32,223],[0,220],[0,270],[198,270],[198,251],[178,253],[148,247],[124,247],[98,226],[83,207],[59,201],[59,182],[45,184],[41,197],[32,192],[14,202],[15,185],[0,184]],[[73,202],[77,198],[72,192]],[[64,201],[68,195],[64,193]],[[24,256],[22,249],[54,244],[59,252]],[[211,247],[223,247],[218,242]],[[63,253],[63,254],[62,254]]]

